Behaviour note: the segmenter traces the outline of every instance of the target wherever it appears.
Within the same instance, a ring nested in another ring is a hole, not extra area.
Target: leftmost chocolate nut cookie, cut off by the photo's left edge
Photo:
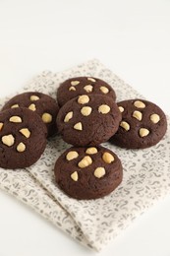
[[[25,168],[38,160],[46,146],[46,126],[28,108],[0,112],[0,167]]]

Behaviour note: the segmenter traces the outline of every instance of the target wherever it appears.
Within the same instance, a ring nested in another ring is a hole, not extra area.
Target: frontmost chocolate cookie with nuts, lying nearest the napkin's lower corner
[[[72,147],[56,160],[54,173],[66,194],[76,199],[96,199],[121,183],[123,169],[118,157],[106,148]]]

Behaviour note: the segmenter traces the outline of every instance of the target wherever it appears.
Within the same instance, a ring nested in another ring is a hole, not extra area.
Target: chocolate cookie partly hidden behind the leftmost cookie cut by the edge
[[[12,97],[3,106],[2,110],[16,107],[28,107],[35,111],[42,118],[47,127],[47,136],[52,136],[57,132],[56,117],[59,106],[54,98],[37,92],[28,92]]]

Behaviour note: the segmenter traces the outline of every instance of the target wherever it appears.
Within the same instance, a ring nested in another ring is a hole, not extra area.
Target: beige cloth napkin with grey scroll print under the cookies
[[[76,76],[92,76],[108,82],[117,100],[142,97],[98,60],[91,60],[61,73],[43,72],[21,90],[38,91],[55,97],[60,82]],[[7,98],[6,98],[7,100]],[[4,100],[1,100],[1,104]],[[125,227],[170,192],[170,121],[168,131],[156,146],[125,150],[104,143],[122,160],[122,184],[110,195],[97,200],[78,201],[56,185],[55,160],[70,147],[60,136],[48,141],[40,160],[27,169],[0,169],[0,187],[13,194],[40,215],[81,243],[101,250]]]

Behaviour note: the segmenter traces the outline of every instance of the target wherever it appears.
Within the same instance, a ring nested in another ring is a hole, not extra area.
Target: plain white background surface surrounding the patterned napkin
[[[0,96],[98,58],[170,114],[169,0],[0,0]],[[169,256],[170,196],[99,256]],[[96,255],[0,191],[0,256]]]

